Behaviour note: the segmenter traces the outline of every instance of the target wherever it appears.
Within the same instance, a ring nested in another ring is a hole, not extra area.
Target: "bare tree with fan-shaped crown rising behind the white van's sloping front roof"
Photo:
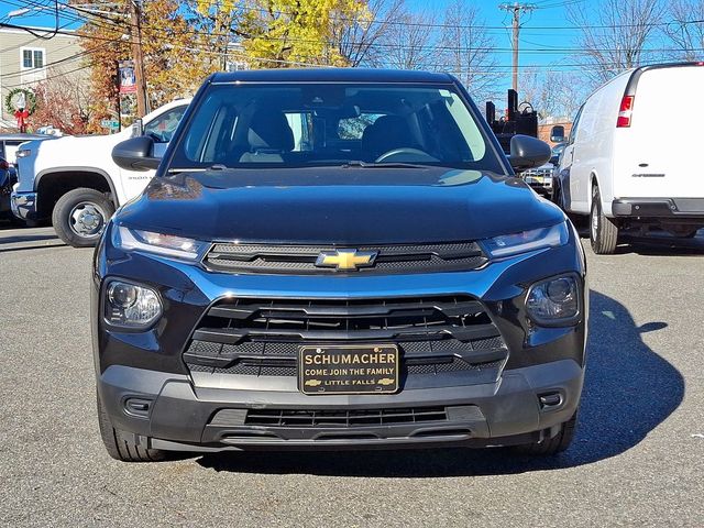
[[[584,70],[606,81],[640,65],[656,34],[663,8],[660,0],[604,0],[570,4],[568,20],[580,28],[578,47],[584,50]]]

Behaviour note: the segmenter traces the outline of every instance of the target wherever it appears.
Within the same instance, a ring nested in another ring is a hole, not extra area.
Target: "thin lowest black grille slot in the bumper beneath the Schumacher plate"
[[[248,410],[245,426],[270,427],[363,427],[447,421],[444,407],[354,410]]]

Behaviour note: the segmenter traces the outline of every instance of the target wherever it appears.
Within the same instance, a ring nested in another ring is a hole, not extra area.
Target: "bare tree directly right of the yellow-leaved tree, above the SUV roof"
[[[332,41],[350,66],[377,67],[385,62],[380,44],[397,28],[393,22],[405,13],[404,0],[369,0],[367,10],[369,20],[342,20],[332,28]]]

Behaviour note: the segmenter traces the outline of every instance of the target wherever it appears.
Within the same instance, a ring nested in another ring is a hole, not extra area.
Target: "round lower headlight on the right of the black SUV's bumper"
[[[571,326],[580,317],[582,299],[578,278],[562,275],[534,284],[526,297],[528,316],[538,324]]]

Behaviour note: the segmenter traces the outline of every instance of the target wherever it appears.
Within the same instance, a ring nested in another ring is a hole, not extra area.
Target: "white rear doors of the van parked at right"
[[[614,197],[704,197],[704,66],[647,68],[630,94],[630,122],[614,135]]]

